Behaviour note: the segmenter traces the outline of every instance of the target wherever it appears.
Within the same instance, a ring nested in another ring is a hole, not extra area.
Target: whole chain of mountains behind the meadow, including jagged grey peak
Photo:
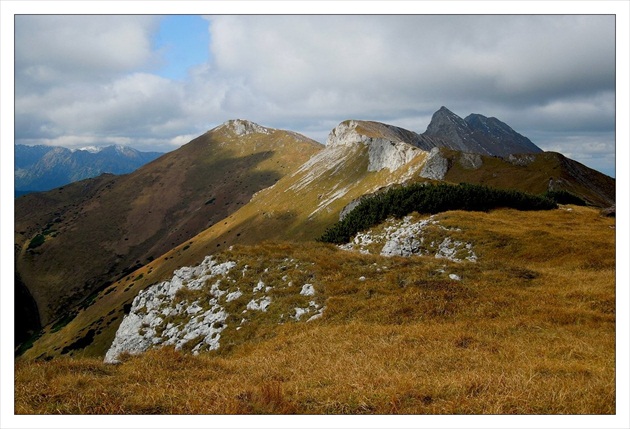
[[[422,134],[347,120],[326,145],[227,121],[131,174],[16,200],[18,337],[41,335],[23,356],[104,356],[139,291],[175,270],[232,245],[312,241],[365,195],[435,182],[615,202],[613,178],[479,114],[442,107]]]

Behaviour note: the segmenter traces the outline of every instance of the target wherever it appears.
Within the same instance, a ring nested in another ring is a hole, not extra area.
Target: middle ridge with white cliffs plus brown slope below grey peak
[[[439,148],[436,142],[437,137],[431,140],[378,122],[342,122],[331,131],[326,147],[307,162],[287,171],[272,186],[256,192],[249,203],[196,236],[175,241],[181,244],[164,248],[163,254],[152,253],[154,260],[147,260],[146,265],[100,292],[73,314],[72,320],[64,321],[63,329],[47,327],[24,357],[52,357],[63,351],[103,356],[114,340],[124,310],[130,310],[141,290],[171,279],[175,270],[200,264],[207,256],[235,244],[313,240],[336,222],[349,204],[389,186],[444,180],[542,193],[549,189],[550,177],[566,177],[568,183],[577,180],[565,174],[566,165],[577,171],[586,168],[573,161],[540,161],[554,157],[548,154],[502,159]],[[536,159],[539,161],[531,161]],[[614,180],[602,176],[580,174],[578,177],[585,179],[580,186],[562,189],[580,196],[590,195],[591,191],[592,195],[602,194],[599,200],[593,197],[589,201],[608,205],[606,199],[614,199]],[[593,191],[593,186],[600,186],[603,191]],[[144,209],[150,210],[146,206]]]

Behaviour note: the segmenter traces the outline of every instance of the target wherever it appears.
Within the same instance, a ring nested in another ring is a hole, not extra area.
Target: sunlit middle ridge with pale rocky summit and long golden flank
[[[165,249],[161,256],[156,253],[153,261],[146,261],[142,268],[121,278],[84,306],[64,329],[45,329],[24,356],[58,355],[63,347],[84,337],[88,326],[100,329],[92,330],[84,353],[104,354],[120,318],[106,324],[103,315],[119,313],[141,289],[170,278],[174,270],[198,264],[207,255],[237,243],[313,240],[338,219],[339,212],[353,199],[417,176],[428,153],[399,137],[368,135],[363,131],[374,131],[375,127],[389,129],[362,121],[343,122],[331,132],[326,147],[299,168],[256,192],[248,204],[226,214],[220,222],[207,225],[197,236],[181,240],[180,245],[175,243],[172,250]],[[252,142],[253,138],[252,135]]]

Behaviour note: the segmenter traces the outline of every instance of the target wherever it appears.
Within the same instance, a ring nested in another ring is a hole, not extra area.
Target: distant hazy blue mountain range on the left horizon
[[[126,174],[163,155],[127,146],[86,147],[15,145],[15,196],[48,191],[103,173]]]

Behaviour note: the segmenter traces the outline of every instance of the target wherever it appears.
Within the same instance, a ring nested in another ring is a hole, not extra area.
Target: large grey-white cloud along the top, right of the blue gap
[[[613,85],[611,16],[209,19],[217,74],[289,111],[532,103]]]

